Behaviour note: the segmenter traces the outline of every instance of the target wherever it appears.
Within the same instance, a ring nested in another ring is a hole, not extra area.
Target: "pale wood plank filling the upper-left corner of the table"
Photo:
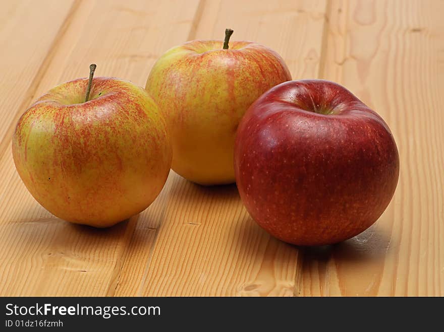
[[[31,0],[4,1],[0,7],[1,156],[9,147],[18,115],[35,97],[36,85],[63,38],[78,2],[44,0],[39,6],[33,6]],[[33,33],[29,33],[30,29]]]

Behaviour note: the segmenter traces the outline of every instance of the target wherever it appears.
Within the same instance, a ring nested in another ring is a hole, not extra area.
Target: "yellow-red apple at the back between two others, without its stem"
[[[235,182],[236,129],[247,108],[291,80],[278,53],[257,43],[194,40],[164,53],[146,90],[168,115],[172,169],[203,185]]]

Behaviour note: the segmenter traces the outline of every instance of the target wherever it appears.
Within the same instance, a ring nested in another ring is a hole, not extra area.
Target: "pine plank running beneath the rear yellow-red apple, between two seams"
[[[282,54],[294,77],[317,77],[325,6],[205,2],[190,39],[221,39],[230,27],[234,40],[255,40]],[[202,187],[174,173],[170,182],[165,210],[148,217],[156,234],[136,226],[116,294],[294,295],[297,248],[271,238],[249,218],[235,185]],[[141,243],[153,236],[154,249],[147,253]]]

